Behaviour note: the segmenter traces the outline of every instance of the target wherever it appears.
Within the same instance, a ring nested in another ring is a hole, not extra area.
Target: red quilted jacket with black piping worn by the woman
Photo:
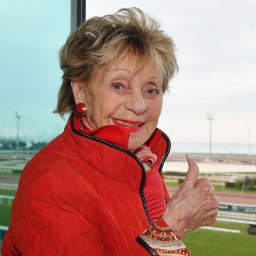
[[[169,139],[157,129],[152,141],[162,177]],[[151,223],[144,184],[145,171],[133,153],[80,132],[72,117],[23,170],[1,252],[150,255],[136,241]]]

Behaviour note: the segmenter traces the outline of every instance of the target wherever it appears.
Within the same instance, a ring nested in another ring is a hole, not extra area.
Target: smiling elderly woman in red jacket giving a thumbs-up
[[[3,255],[191,255],[181,237],[215,222],[196,162],[169,199],[156,128],[174,44],[137,8],[87,20],[60,51],[64,132],[26,165]]]

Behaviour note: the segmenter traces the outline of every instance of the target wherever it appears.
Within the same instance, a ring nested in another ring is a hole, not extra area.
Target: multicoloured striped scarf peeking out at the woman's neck
[[[82,124],[86,126],[89,130],[93,130],[86,117],[82,119]],[[157,156],[153,154],[151,152],[151,149],[145,144],[137,148],[134,154],[136,154],[136,156],[142,162],[146,172],[151,170],[156,165]]]

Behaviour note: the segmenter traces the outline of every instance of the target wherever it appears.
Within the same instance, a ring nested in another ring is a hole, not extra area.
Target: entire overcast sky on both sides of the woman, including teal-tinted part
[[[16,110],[21,136],[62,132],[52,111],[69,2],[0,0],[0,136],[16,136]],[[87,0],[86,16],[131,6],[158,19],[177,46],[179,73],[158,127],[174,142],[207,143],[212,113],[213,143],[256,143],[256,1]]]

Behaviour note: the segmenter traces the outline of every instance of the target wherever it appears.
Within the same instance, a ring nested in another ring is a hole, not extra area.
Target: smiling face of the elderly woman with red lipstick
[[[135,151],[154,132],[162,109],[162,75],[150,64],[137,69],[132,53],[121,56],[107,69],[99,68],[94,81],[82,85],[76,104],[85,103],[92,128],[124,125],[130,132],[128,150]]]

